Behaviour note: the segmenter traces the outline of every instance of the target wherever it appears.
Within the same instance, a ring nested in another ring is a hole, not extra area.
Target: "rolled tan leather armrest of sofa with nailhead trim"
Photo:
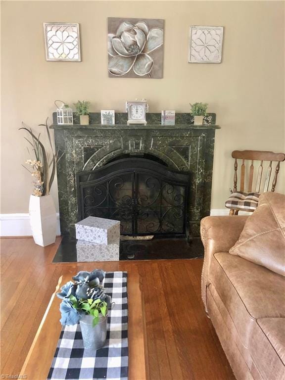
[[[206,286],[209,284],[211,260],[217,252],[229,252],[237,242],[248,216],[207,216],[201,220],[200,233],[204,245],[202,299],[207,312]]]

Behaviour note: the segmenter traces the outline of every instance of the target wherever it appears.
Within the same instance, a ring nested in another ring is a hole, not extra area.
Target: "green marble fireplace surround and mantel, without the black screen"
[[[74,125],[57,125],[53,113],[55,147],[63,156],[57,164],[61,234],[74,236],[78,221],[76,173],[97,169],[115,157],[143,153],[162,160],[175,170],[191,175],[190,235],[199,236],[200,220],[210,214],[216,115],[209,113],[204,124],[193,124],[190,113],[176,113],[176,124],[161,125],[160,113],[148,113],[147,125],[127,125],[127,114],[116,113],[115,125],[101,125],[100,113],[90,114],[83,126],[74,114]]]

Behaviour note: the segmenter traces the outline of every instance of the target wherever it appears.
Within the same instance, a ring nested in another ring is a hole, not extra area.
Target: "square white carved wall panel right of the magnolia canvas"
[[[190,26],[189,63],[221,63],[223,26]]]

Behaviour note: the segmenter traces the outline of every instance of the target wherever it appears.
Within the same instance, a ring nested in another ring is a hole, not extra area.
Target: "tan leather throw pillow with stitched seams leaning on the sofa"
[[[285,195],[272,191],[260,195],[230,253],[285,276]]]

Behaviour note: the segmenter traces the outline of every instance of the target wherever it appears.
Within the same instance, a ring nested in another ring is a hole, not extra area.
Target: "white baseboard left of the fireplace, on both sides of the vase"
[[[56,235],[60,235],[59,213],[56,213]],[[32,236],[29,214],[0,214],[0,236]]]

